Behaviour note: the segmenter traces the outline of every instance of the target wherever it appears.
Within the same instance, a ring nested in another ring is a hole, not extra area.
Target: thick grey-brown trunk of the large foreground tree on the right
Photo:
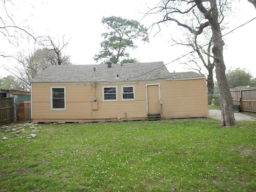
[[[220,89],[220,104],[221,104],[221,125],[234,126],[236,124],[233,112],[233,102],[230,90],[228,88],[228,80],[226,78],[226,66],[223,58],[222,34],[218,23],[218,9],[216,0],[211,0],[212,13],[208,18],[211,23],[212,34],[214,37],[212,53],[216,67],[216,78]]]

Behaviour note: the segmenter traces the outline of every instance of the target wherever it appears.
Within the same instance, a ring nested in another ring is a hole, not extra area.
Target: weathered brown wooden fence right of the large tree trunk
[[[240,110],[256,112],[256,88],[230,90],[233,104],[240,105]]]

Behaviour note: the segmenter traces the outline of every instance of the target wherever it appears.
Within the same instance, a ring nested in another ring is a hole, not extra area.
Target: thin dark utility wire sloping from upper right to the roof
[[[185,56],[187,56],[187,55],[189,55],[189,54],[191,54],[191,53],[193,53],[193,52],[199,50],[200,48],[202,48],[202,47],[204,47],[204,46],[206,46],[206,45],[208,45],[208,44],[210,44],[210,43],[212,43],[212,42],[218,40],[219,38],[222,38],[222,37],[226,36],[227,34],[230,34],[230,33],[233,32],[234,30],[237,30],[238,28],[240,28],[240,27],[242,27],[242,26],[244,26],[244,25],[246,25],[246,24],[252,22],[254,19],[256,19],[256,17],[254,17],[254,18],[252,18],[251,20],[249,20],[248,22],[246,22],[246,23],[244,23],[244,24],[242,24],[242,25],[240,25],[240,26],[234,28],[233,30],[227,32],[226,34],[224,34],[224,35],[222,35],[222,36],[220,36],[220,37],[218,37],[218,38],[216,38],[216,39],[210,41],[209,43],[207,43],[207,44],[205,44],[205,45],[202,45],[202,46],[199,46],[199,48],[197,48],[197,49],[195,49],[195,50],[193,50],[193,51],[191,51],[191,52],[189,52],[189,53],[187,53],[187,54],[185,54],[185,55],[183,55],[183,56],[181,56],[181,57],[179,57],[179,58],[176,58],[176,59],[172,60],[171,62],[168,62],[168,63],[166,63],[166,64],[164,64],[164,65],[162,65],[162,66],[160,66],[160,67],[158,67],[158,68],[155,68],[155,69],[153,69],[153,70],[150,70],[150,71],[148,71],[148,72],[146,72],[146,73],[143,73],[143,74],[140,74],[140,75],[138,75],[138,76],[134,76],[134,77],[132,77],[132,78],[128,78],[128,79],[126,79],[126,80],[131,80],[131,79],[134,79],[134,78],[137,78],[137,77],[146,75],[146,74],[151,73],[151,72],[153,72],[153,71],[155,71],[155,70],[158,70],[158,69],[160,69],[160,68],[162,68],[162,67],[164,67],[164,66],[166,66],[166,65],[168,65],[168,64],[170,64],[170,63],[173,63],[174,61],[180,60],[181,58],[183,58],[183,57],[185,57]],[[126,81],[126,80],[122,80],[122,81]],[[116,81],[116,82],[122,82],[122,81]]]

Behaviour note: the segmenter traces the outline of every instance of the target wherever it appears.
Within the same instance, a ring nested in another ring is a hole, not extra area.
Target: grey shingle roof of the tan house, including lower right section
[[[93,71],[93,68],[96,71]],[[158,69],[156,69],[158,68]],[[156,69],[156,70],[155,70]],[[195,72],[175,73],[176,78],[204,77]],[[119,78],[117,79],[117,75]],[[52,65],[30,82],[122,82],[171,78],[163,62],[96,65]]]

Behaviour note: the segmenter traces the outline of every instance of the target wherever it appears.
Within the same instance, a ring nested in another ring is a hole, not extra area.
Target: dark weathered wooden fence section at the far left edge
[[[0,98],[0,125],[10,124],[14,120],[13,98]]]

